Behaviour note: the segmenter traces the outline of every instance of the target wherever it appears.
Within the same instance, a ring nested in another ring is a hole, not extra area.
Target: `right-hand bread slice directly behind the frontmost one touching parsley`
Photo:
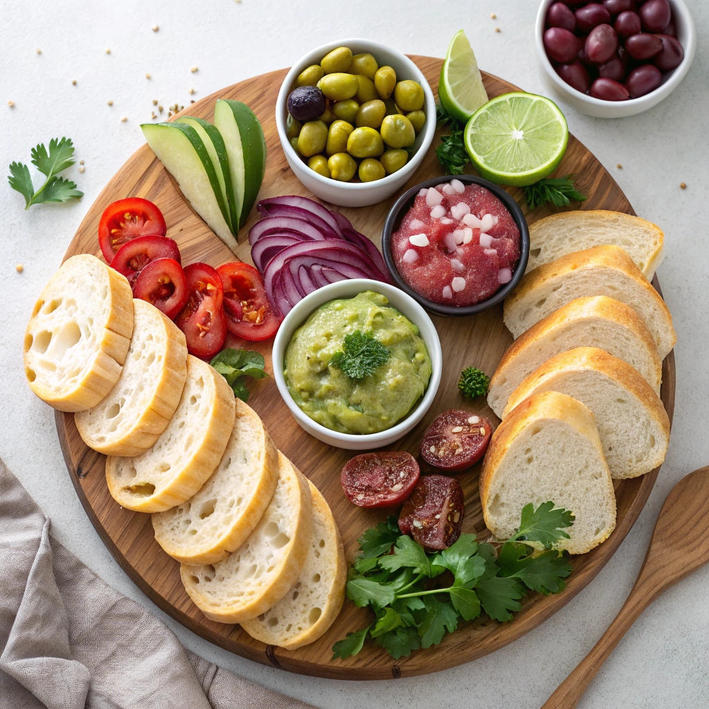
[[[596,347],[557,354],[513,391],[503,418],[540,391],[573,396],[591,410],[612,478],[635,478],[664,462],[667,412],[647,381],[623,359]]]

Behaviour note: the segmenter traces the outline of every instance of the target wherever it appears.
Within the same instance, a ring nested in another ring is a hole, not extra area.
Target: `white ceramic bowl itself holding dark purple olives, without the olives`
[[[697,30],[683,0],[669,0],[672,16],[677,26],[677,39],[684,49],[684,59],[679,67],[668,72],[663,83],[657,89],[650,91],[649,94],[640,96],[639,99],[629,99],[628,101],[601,101],[601,99],[594,99],[593,96],[576,91],[557,74],[544,49],[542,36],[545,30],[547,10],[549,5],[555,1],[542,0],[537,13],[537,26],[535,29],[537,57],[540,61],[542,80],[547,88],[561,96],[567,104],[576,108],[576,111],[586,113],[588,116],[596,116],[596,118],[635,116],[637,113],[642,113],[642,111],[647,111],[648,108],[657,106],[660,101],[666,99],[679,86],[685,74],[689,71],[697,48]]]

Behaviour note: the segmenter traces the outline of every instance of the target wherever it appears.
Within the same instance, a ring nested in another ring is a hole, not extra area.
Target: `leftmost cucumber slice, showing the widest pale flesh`
[[[224,218],[219,181],[197,131],[184,123],[143,123],[145,140],[179,184],[194,211],[231,249],[238,246]]]

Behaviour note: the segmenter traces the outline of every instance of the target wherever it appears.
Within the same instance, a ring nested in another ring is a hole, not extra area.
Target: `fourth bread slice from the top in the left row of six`
[[[278,451],[262,420],[237,399],[234,428],[216,470],[189,500],[152,515],[155,540],[183,564],[220,561],[259,523],[278,471]]]

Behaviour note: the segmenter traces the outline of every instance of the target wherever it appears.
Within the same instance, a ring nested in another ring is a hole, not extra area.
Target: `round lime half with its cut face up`
[[[547,177],[569,141],[566,118],[554,101],[535,94],[503,94],[481,106],[465,126],[465,147],[481,177],[525,186]]]

